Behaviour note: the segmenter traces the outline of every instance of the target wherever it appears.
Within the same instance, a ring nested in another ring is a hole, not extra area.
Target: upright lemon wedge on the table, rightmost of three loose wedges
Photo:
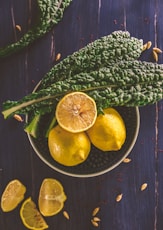
[[[43,180],[39,192],[39,210],[44,216],[53,216],[59,213],[67,199],[62,184],[52,178]]]

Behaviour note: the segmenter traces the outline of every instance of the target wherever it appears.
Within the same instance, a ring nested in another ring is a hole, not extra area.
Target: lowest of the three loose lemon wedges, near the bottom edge
[[[20,217],[28,229],[43,230],[48,228],[47,223],[36,208],[36,204],[32,201],[31,197],[23,202],[20,209]]]

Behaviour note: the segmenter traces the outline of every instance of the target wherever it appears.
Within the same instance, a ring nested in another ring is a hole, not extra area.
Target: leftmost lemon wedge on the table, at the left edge
[[[12,180],[6,186],[1,196],[1,208],[4,212],[15,209],[24,199],[26,187],[17,179]]]

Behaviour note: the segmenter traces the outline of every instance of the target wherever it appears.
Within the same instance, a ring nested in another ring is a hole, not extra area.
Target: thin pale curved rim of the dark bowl
[[[37,154],[37,156],[46,164],[48,165],[50,168],[52,168],[53,170],[55,170],[56,172],[59,172],[61,174],[64,174],[64,175],[67,175],[67,176],[71,176],[71,177],[78,177],[78,178],[89,178],[89,177],[96,177],[96,176],[100,176],[100,175],[103,175],[111,170],[113,170],[114,168],[116,168],[118,165],[120,165],[120,163],[123,162],[123,160],[130,154],[131,150],[133,149],[135,143],[136,143],[136,140],[137,140],[137,137],[138,137],[138,133],[139,133],[139,127],[140,127],[140,113],[139,113],[139,108],[138,107],[134,107],[135,108],[135,111],[136,111],[136,130],[135,130],[135,135],[134,135],[134,138],[132,140],[132,143],[130,145],[130,147],[128,148],[128,150],[126,151],[126,153],[124,154],[123,157],[121,157],[121,159],[115,163],[113,166],[111,167],[108,167],[107,169],[105,170],[102,170],[102,171],[99,171],[99,172],[95,172],[95,173],[90,173],[90,174],[74,174],[74,173],[70,173],[70,172],[66,172],[66,171],[63,171],[57,167],[55,167],[53,164],[51,164],[50,162],[48,162],[42,155],[41,153],[38,151],[38,149],[36,148],[33,140],[32,140],[32,136],[27,133],[27,136],[28,136],[28,139],[29,139],[29,142],[33,148],[33,150],[35,151],[35,153]],[[28,119],[28,116],[26,116],[26,120]]]

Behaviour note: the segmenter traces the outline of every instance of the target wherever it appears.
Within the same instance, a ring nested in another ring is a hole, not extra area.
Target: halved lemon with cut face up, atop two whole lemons
[[[56,119],[59,125],[72,133],[89,129],[95,123],[96,117],[95,101],[82,92],[67,94],[56,107]]]

